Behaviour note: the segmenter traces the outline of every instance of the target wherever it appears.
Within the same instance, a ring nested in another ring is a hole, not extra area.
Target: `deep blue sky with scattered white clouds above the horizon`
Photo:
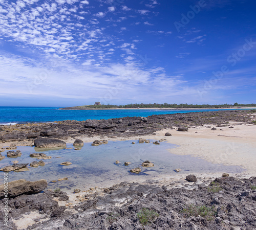
[[[256,101],[253,0],[0,0],[0,106]]]

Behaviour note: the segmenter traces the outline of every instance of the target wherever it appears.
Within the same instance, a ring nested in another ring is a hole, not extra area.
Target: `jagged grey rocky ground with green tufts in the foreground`
[[[76,202],[64,192],[45,190],[10,198],[8,227],[1,200],[0,228],[255,229],[255,185],[256,177],[122,182],[76,193]]]

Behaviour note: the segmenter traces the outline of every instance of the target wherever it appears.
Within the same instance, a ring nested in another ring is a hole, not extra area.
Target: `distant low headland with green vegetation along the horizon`
[[[118,109],[118,108],[174,108],[174,109],[181,109],[181,108],[237,108],[237,107],[256,107],[256,104],[238,104],[234,103],[231,104],[222,104],[222,105],[193,105],[193,104],[128,104],[128,105],[82,105],[82,106],[74,106],[74,107],[67,107],[61,109]]]

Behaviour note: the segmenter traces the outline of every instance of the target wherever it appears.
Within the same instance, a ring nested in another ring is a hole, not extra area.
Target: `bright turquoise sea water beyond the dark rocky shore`
[[[220,109],[156,110],[58,110],[59,107],[0,107],[0,124],[54,122],[63,120],[111,119],[123,117],[148,117],[153,114],[218,111]],[[223,109],[221,109],[223,110]]]

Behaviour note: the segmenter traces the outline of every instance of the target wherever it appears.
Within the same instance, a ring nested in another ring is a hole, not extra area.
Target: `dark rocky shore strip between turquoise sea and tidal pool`
[[[147,118],[125,117],[109,120],[59,121],[54,123],[28,123],[16,125],[0,125],[0,143],[23,142],[38,137],[51,137],[67,140],[69,137],[85,135],[107,137],[131,137],[153,134],[156,131],[173,126],[203,126],[205,124],[217,127],[229,126],[230,122],[240,124],[255,124],[255,110],[224,110],[190,112],[176,114],[160,114]]]

